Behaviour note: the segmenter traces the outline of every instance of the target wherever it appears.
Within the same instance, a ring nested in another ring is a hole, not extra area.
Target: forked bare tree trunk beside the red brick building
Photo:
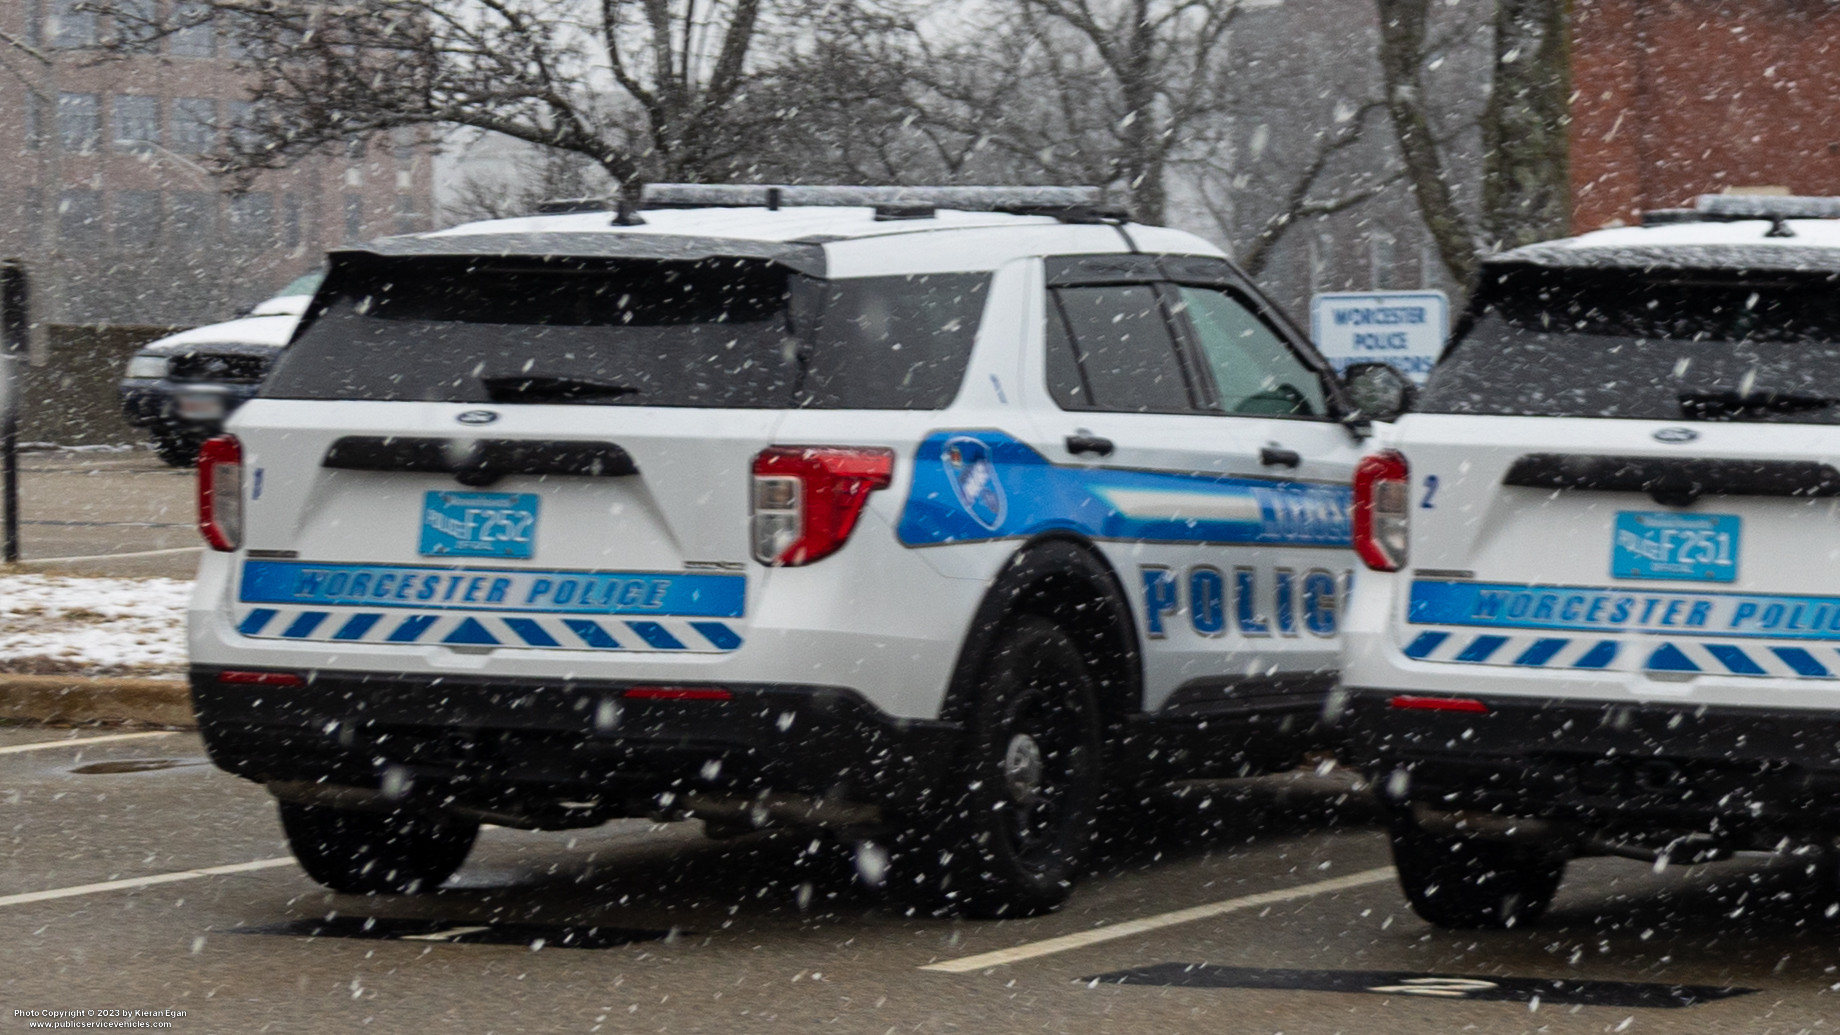
[[[1483,254],[1564,236],[1570,225],[1566,0],[1496,0],[1490,87],[1479,116],[1481,190],[1455,190],[1433,129],[1424,66],[1432,0],[1376,0],[1387,114],[1444,267],[1468,284]]]

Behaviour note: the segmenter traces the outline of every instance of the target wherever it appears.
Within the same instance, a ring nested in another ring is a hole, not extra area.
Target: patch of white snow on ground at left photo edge
[[[0,672],[180,676],[180,578],[0,575]]]

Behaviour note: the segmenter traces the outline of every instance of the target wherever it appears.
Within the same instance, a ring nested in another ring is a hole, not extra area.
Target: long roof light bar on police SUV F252
[[[955,208],[1016,212],[1098,208],[1097,186],[780,186],[780,184],[646,184],[640,208]]]

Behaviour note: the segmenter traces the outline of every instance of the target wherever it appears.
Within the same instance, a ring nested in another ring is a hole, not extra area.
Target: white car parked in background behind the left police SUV
[[[121,413],[153,435],[162,460],[191,466],[199,444],[256,394],[322,278],[298,276],[245,317],[162,337],[127,361]]]

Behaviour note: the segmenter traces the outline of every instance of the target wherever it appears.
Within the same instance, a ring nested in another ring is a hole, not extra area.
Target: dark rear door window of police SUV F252
[[[1056,287],[1047,309],[1049,392],[1062,409],[1194,411],[1154,287]]]

